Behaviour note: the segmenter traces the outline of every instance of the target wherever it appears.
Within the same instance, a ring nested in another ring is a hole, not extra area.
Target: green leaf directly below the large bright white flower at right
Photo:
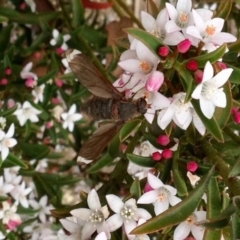
[[[223,135],[222,135],[222,131],[216,121],[216,119],[214,118],[214,116],[211,119],[206,118],[201,109],[200,109],[200,105],[199,105],[199,101],[192,99],[192,105],[197,113],[197,115],[199,116],[199,118],[202,120],[203,124],[205,125],[206,129],[212,134],[212,136],[219,142],[223,142]]]

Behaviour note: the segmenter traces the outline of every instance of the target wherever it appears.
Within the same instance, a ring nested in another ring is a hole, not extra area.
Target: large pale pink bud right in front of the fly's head
[[[145,88],[149,92],[157,92],[162,86],[164,80],[164,75],[162,72],[154,71],[151,73],[147,79]]]

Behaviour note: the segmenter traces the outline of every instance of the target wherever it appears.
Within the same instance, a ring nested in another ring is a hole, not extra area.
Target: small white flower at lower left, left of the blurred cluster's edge
[[[21,185],[16,186],[12,191],[12,197],[21,203],[21,205],[25,208],[29,207],[29,202],[27,199],[27,195],[32,191],[32,188],[25,188],[25,182],[22,182]]]

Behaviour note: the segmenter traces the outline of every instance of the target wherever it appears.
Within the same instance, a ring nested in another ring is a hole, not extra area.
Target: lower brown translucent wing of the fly
[[[98,128],[93,135],[83,144],[79,156],[88,160],[95,160],[103,149],[122,128],[124,121],[107,123]]]

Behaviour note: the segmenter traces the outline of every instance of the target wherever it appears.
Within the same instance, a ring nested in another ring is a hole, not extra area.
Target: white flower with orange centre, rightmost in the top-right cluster
[[[189,26],[186,32],[205,43],[204,50],[213,51],[217,46],[224,43],[235,42],[237,38],[230,33],[221,32],[224,26],[224,19],[205,19],[204,15],[192,10],[195,26]]]

